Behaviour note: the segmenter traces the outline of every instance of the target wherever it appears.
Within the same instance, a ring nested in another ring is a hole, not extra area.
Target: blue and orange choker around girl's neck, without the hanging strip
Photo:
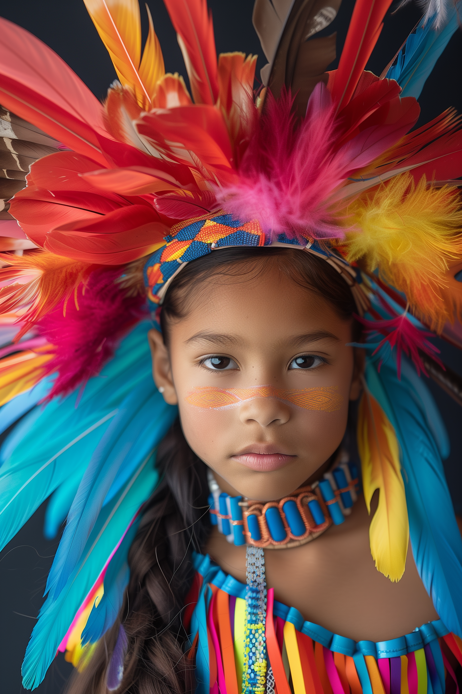
[[[330,525],[340,525],[357,500],[357,465],[342,452],[323,477],[281,499],[260,502],[229,496],[208,471],[210,519],[235,545],[285,549],[316,539]]]

